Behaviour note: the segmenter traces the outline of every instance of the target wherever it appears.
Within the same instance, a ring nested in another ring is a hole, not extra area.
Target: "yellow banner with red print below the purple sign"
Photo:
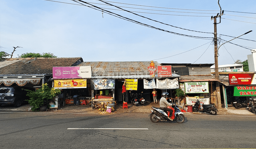
[[[54,88],[86,88],[86,79],[60,79],[54,80]]]

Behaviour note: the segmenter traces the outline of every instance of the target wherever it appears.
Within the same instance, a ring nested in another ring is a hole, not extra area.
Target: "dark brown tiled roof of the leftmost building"
[[[78,61],[83,61],[81,57],[71,58],[20,58],[6,59],[5,61],[16,60],[10,65],[0,68],[0,75],[36,75],[36,74],[52,74],[52,67],[68,67],[74,66]],[[1,61],[0,64],[4,62]],[[8,62],[5,62],[8,63]]]

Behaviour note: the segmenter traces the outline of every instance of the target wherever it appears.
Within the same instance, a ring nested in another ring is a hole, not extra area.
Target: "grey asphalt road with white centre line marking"
[[[0,111],[0,148],[256,148],[256,116],[188,114],[180,124],[148,115]]]

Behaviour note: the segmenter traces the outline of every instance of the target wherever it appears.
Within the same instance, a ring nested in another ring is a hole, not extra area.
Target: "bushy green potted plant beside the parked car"
[[[31,105],[32,111],[39,111],[40,107],[47,106],[50,107],[49,103],[55,103],[55,96],[60,94],[60,90],[49,88],[48,84],[45,83],[42,85],[42,88],[37,89],[36,91],[27,90],[27,96],[30,98],[28,99],[28,104]]]

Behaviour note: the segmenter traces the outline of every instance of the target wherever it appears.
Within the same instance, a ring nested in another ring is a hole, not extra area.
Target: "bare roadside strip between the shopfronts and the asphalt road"
[[[137,107],[134,105],[131,105],[128,103],[128,109],[122,107],[122,104],[118,104],[115,107],[115,111],[113,113],[121,113],[121,112],[142,112],[142,113],[149,113],[151,111],[151,106],[159,107],[159,103],[146,103],[145,106],[138,105]],[[81,112],[86,112],[86,113],[95,113],[98,114],[100,111],[98,110],[99,108],[92,109],[90,105],[70,105],[67,104],[65,106],[61,106],[58,110],[57,109],[48,109],[48,111],[43,111],[43,112],[70,112],[70,113],[81,113]],[[0,110],[11,110],[11,111],[27,111],[27,112],[32,112],[30,111],[30,105],[22,105],[20,107],[14,107],[12,105],[2,105],[0,107]],[[235,109],[235,107],[228,107],[228,108],[219,108],[218,109],[218,115],[250,115],[253,116],[252,112],[249,112],[246,110],[245,107],[242,107],[240,109]],[[42,112],[42,111],[41,111]],[[200,115],[202,114],[201,112],[186,112],[184,114],[192,114],[192,115]],[[206,114],[206,113],[203,113]]]

